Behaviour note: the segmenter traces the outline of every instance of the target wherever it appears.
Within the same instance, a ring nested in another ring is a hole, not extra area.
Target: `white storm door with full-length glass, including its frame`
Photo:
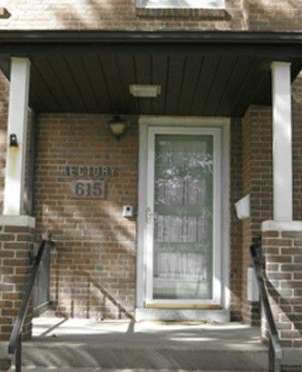
[[[149,127],[146,304],[219,305],[219,128]]]

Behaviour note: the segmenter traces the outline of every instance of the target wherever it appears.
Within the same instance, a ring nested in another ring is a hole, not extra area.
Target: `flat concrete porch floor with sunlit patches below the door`
[[[204,350],[261,351],[257,327],[238,322],[209,324],[199,322],[95,321],[57,317],[34,318],[33,343],[41,341],[95,343],[99,347],[187,348]]]

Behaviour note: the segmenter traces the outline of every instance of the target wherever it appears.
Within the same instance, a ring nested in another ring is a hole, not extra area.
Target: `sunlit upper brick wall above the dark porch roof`
[[[3,0],[0,29],[299,30],[302,1],[226,0],[225,11],[138,11],[134,0]]]

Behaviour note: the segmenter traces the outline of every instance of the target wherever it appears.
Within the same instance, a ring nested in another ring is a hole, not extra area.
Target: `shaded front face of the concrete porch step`
[[[266,350],[200,350],[188,347],[104,347],[97,342],[32,342],[24,345],[24,366],[135,370],[267,371]]]

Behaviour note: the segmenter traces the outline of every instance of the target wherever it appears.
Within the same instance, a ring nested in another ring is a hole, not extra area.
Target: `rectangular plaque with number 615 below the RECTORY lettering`
[[[105,182],[102,180],[73,181],[73,197],[83,199],[104,199]]]

